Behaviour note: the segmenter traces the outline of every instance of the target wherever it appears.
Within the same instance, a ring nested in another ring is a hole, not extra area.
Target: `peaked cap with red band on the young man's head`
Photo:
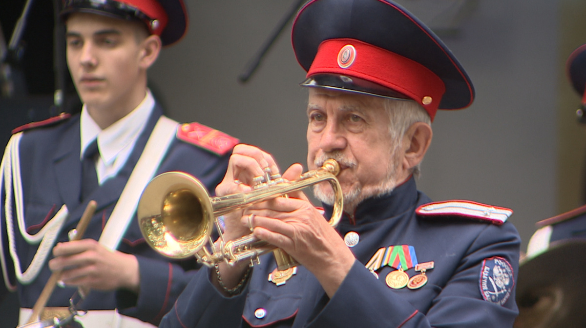
[[[161,37],[163,46],[178,42],[189,23],[183,0],[64,0],[61,16],[73,12],[139,20]]]

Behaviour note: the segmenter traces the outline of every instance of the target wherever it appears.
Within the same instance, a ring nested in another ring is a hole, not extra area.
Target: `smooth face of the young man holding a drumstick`
[[[88,108],[129,102],[141,79],[137,23],[73,13],[66,25],[67,65],[81,100]]]

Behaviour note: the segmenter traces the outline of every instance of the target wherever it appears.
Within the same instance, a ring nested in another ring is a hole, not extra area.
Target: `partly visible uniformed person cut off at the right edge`
[[[566,72],[581,96],[578,122],[586,123],[586,44],[568,57]],[[586,187],[586,184],[585,184]],[[518,328],[585,327],[586,205],[541,220],[519,269]]]

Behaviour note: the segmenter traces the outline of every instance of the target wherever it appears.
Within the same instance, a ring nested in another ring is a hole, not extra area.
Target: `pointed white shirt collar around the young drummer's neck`
[[[155,106],[155,99],[151,91],[147,89],[147,95],[142,99],[137,108],[124,116],[113,125],[101,130],[96,121],[91,118],[87,112],[86,105],[81,108],[80,129],[81,129],[81,149],[80,158],[83,152],[96,138],[98,139],[98,150],[104,164],[111,165],[116,159],[118,153],[132,144],[142,129],[152,109]]]

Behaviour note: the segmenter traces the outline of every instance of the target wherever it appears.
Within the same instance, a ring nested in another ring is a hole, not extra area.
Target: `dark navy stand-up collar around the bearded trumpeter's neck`
[[[417,203],[418,192],[415,178],[411,176],[403,184],[398,185],[388,194],[374,196],[361,202],[353,215],[354,219],[344,212],[341,222],[353,225],[364,225],[388,219],[406,212]],[[325,216],[331,217],[333,208],[324,205]],[[353,223],[355,222],[355,223]]]

